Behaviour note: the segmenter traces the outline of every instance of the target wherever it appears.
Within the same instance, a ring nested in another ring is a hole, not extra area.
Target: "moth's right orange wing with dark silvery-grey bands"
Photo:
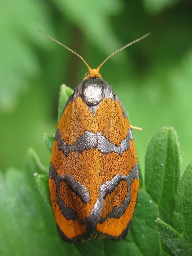
[[[96,226],[97,236],[119,240],[127,234],[137,201],[139,175],[135,144],[118,98],[103,99],[97,109],[97,120],[103,142],[99,163],[101,200],[104,200]]]

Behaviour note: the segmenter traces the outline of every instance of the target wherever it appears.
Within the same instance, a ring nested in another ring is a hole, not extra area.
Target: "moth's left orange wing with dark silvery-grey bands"
[[[50,195],[60,236],[68,242],[90,237],[86,218],[99,197],[99,152],[96,146],[93,148],[97,140],[95,124],[95,115],[86,103],[81,98],[72,98],[55,136]]]

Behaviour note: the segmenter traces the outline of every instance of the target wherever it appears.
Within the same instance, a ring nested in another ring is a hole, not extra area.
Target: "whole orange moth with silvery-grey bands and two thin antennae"
[[[46,36],[46,33],[42,32]],[[132,128],[101,66],[78,84],[63,109],[55,135],[49,172],[53,214],[66,242],[106,238],[118,241],[130,228],[139,189]]]

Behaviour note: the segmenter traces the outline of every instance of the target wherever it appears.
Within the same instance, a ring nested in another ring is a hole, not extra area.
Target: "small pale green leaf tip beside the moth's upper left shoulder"
[[[73,94],[73,90],[67,87],[65,84],[62,84],[59,92],[59,107],[58,107],[58,122],[61,118],[63,109],[69,99],[69,97]]]

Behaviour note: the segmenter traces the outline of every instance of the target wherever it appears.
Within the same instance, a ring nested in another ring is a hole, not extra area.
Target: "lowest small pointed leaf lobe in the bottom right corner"
[[[157,219],[157,228],[162,241],[170,250],[172,250],[174,255],[180,256],[192,254],[192,245],[189,244],[182,234],[177,232],[174,228],[160,219]]]

